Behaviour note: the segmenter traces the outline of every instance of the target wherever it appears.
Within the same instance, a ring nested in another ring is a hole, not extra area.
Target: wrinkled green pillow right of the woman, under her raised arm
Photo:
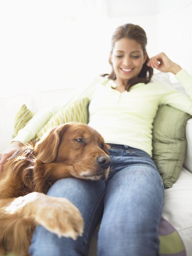
[[[168,105],[159,107],[153,124],[153,159],[169,188],[178,179],[183,166],[186,138],[185,125],[190,115]]]

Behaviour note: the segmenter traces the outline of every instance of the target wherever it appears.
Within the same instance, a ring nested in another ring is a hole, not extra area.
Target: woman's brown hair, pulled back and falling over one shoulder
[[[122,38],[129,38],[129,39],[133,39],[135,41],[137,41],[140,45],[141,45],[141,48],[143,50],[143,54],[145,55],[146,54],[146,44],[147,44],[147,37],[146,37],[146,33],[145,31],[138,25],[134,25],[134,24],[124,24],[122,26],[119,26],[113,36],[112,36],[112,47],[111,47],[111,54],[113,52],[113,49],[114,49],[114,46],[115,46],[115,43],[122,39]],[[139,73],[138,77],[134,77],[134,78],[131,78],[130,80],[127,81],[127,84],[125,86],[125,89],[126,91],[129,91],[130,88],[132,86],[134,86],[136,83],[139,83],[139,82],[144,82],[144,83],[148,83],[150,82],[152,76],[153,76],[153,69],[151,67],[148,67],[146,64],[148,62],[150,58],[148,57],[147,55],[147,58],[143,64],[143,67],[141,69],[141,72]],[[115,75],[115,72],[114,72],[114,69],[113,69],[113,65],[112,65],[112,62],[111,62],[111,58],[109,58],[109,62],[110,62],[110,65],[112,66],[112,72],[111,74],[104,74],[102,76],[105,76],[105,75],[109,75],[109,78],[112,79],[112,80],[115,80],[116,79],[116,75]]]

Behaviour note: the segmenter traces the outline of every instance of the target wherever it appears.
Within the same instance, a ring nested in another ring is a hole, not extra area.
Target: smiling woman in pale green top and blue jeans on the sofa
[[[101,217],[98,255],[158,255],[164,188],[152,160],[153,120],[161,104],[192,114],[192,100],[166,84],[151,82],[151,77],[153,68],[171,72],[191,95],[192,78],[164,53],[149,59],[146,42],[141,27],[118,27],[112,37],[112,73],[96,79],[78,96],[90,98],[89,125],[111,145],[110,176],[106,181],[96,182],[59,180],[48,195],[68,198],[79,208],[85,223],[83,236],[73,241],[37,227],[31,255],[87,255],[90,238]],[[51,114],[54,112],[55,109]],[[49,116],[49,111],[38,113],[0,155],[1,164],[30,141]]]

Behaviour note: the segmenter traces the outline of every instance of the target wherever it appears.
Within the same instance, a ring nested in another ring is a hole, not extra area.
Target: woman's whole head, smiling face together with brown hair
[[[137,32],[135,28],[137,27]],[[132,24],[118,27],[112,36],[109,62],[112,72],[109,78],[118,84],[116,90],[129,91],[138,82],[151,80],[153,69],[147,66],[147,38],[145,31]]]

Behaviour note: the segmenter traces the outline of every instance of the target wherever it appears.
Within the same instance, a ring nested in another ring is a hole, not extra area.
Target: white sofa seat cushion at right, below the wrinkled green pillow
[[[192,255],[192,173],[184,167],[172,188],[165,189],[162,217],[179,232],[187,255]]]

